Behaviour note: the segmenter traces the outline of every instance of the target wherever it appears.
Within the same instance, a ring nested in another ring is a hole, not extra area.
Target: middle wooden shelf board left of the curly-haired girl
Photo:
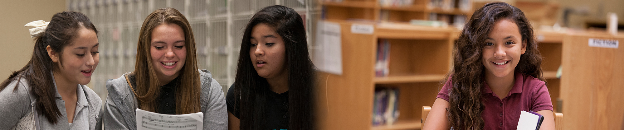
[[[391,83],[422,83],[440,81],[446,75],[411,75],[411,76],[394,76],[394,77],[375,77],[375,84],[391,84]]]

